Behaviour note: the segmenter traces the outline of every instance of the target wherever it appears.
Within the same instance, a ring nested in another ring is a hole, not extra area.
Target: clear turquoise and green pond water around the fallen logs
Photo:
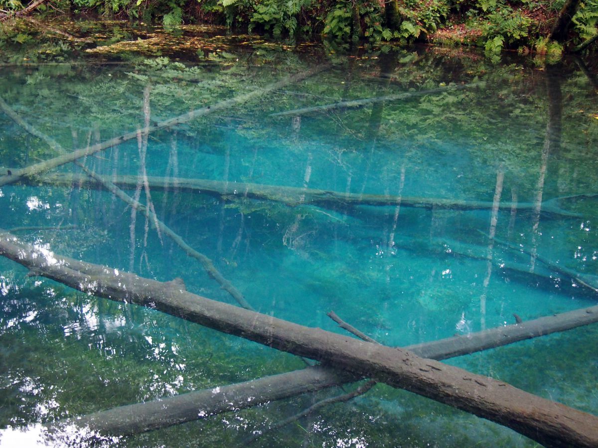
[[[236,304],[160,220],[257,311],[346,334],[334,311],[392,346],[596,305],[598,102],[578,65],[441,48],[343,55],[193,27],[175,37],[0,66],[0,174],[132,133],[84,168],[0,187],[0,228]],[[177,42],[185,51],[169,54]],[[0,446],[51,444],[39,424],[304,366],[0,266]],[[447,362],[598,414],[597,336],[582,327]],[[249,446],[535,446],[384,385],[267,431],[342,393],[103,443],[245,446],[263,432]]]

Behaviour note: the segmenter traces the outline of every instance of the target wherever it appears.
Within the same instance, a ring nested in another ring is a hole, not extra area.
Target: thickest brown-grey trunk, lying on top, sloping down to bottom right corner
[[[0,254],[75,289],[175,317],[407,389],[508,426],[547,446],[598,445],[598,417],[413,352],[313,329],[182,290],[178,284],[60,257],[0,231]]]

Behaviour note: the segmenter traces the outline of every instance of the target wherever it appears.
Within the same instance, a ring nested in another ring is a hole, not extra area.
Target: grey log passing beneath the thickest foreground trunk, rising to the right
[[[471,335],[410,345],[405,349],[420,357],[444,360],[597,322],[598,305],[484,330]],[[254,381],[220,386],[205,391],[188,392],[147,403],[119,406],[59,422],[59,424],[50,425],[50,428],[60,429],[63,425],[75,424],[105,435],[139,434],[208,418],[231,410],[245,409],[270,401],[339,386],[343,383],[358,381],[358,379],[358,376],[341,373],[332,367],[319,366],[317,369],[307,367]],[[280,390],[274,387],[281,384],[283,387]],[[222,406],[222,401],[231,404],[228,407]]]

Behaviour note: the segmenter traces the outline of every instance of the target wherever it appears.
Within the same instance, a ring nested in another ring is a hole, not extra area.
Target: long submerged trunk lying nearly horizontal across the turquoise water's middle
[[[120,188],[133,189],[139,182],[137,176],[102,176],[101,180],[111,180]],[[89,188],[103,188],[102,182],[91,180],[78,174],[56,173],[37,176],[34,179],[22,180],[23,183],[35,184],[50,183],[59,186],[84,185]],[[263,185],[247,182],[222,182],[221,180],[207,179],[184,179],[180,177],[155,177],[148,176],[148,184],[152,190],[170,190],[194,192],[212,195],[225,200],[234,197],[251,198],[256,200],[267,200],[283,202],[284,204],[295,206],[300,204],[314,204],[324,208],[340,208],[347,205],[371,205],[371,206],[389,206],[401,204],[401,207],[416,207],[431,210],[432,208],[444,208],[450,210],[492,210],[492,202],[489,201],[465,201],[450,200],[442,198],[420,198],[409,196],[390,196],[358,193],[341,193],[337,191],[320,190],[314,188],[300,188],[283,185]],[[590,195],[584,195],[590,196]],[[567,197],[565,199],[572,199]],[[542,212],[548,214],[558,214],[562,216],[579,215],[563,210],[559,207],[560,198],[542,202]],[[521,202],[511,204],[511,202],[502,202],[500,208],[511,210],[512,207],[517,210],[533,210],[535,204],[532,202]]]

